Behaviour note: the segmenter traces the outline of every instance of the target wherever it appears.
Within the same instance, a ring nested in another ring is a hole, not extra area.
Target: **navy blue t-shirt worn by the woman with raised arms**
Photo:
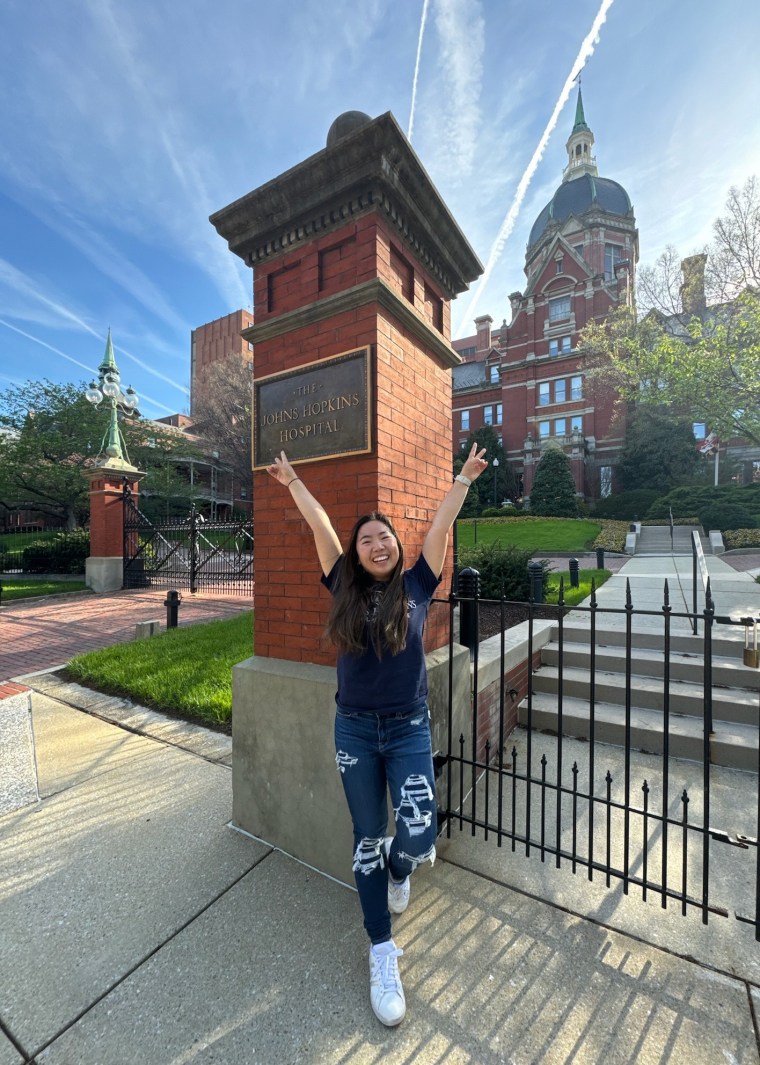
[[[343,566],[341,557],[330,573],[321,578],[333,592]],[[428,697],[428,674],[425,668],[423,629],[433,592],[441,581],[419,556],[411,570],[403,574],[408,599],[409,632],[407,646],[397,655],[390,651],[378,658],[365,629],[366,651],[361,655],[337,656],[338,706],[345,710],[371,710],[374,714],[398,714],[416,710]]]

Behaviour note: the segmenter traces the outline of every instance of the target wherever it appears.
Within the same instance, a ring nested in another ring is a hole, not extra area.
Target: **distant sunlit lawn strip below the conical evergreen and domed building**
[[[590,551],[601,525],[577,518],[467,518],[457,522],[460,547],[496,543],[526,551]]]

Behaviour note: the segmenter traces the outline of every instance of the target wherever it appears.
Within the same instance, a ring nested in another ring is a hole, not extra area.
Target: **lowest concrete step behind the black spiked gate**
[[[517,720],[529,724],[527,701],[517,708]],[[562,735],[589,739],[590,709],[588,701],[565,698],[562,701]],[[534,693],[530,726],[540,732],[558,735],[559,716],[557,699]],[[625,747],[625,708],[614,703],[597,703],[594,709],[594,737],[596,742]],[[662,754],[663,715],[661,710],[631,708],[631,747],[647,754]],[[701,721],[693,717],[671,714],[668,722],[668,754],[674,758],[704,759],[704,731]],[[757,771],[758,730],[755,725],[737,722],[713,721],[710,737],[710,760],[716,766]]]

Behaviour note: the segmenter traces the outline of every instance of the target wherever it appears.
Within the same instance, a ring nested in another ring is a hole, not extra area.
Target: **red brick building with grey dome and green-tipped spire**
[[[493,425],[527,497],[549,441],[571,458],[586,498],[609,494],[623,444],[613,397],[590,395],[576,349],[586,323],[632,301],[639,260],[628,193],[599,177],[593,146],[579,88],[567,165],[530,230],[526,286],[509,297],[511,322],[492,332],[493,320],[484,315],[476,320],[475,337],[453,344],[465,360],[453,371],[455,447]]]

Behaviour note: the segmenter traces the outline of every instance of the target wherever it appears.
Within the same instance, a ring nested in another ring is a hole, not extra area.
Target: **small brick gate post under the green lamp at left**
[[[142,473],[134,466],[94,466],[86,471],[89,482],[89,558],[85,563],[87,586],[96,592],[121,588],[123,574],[123,480],[137,502]]]

